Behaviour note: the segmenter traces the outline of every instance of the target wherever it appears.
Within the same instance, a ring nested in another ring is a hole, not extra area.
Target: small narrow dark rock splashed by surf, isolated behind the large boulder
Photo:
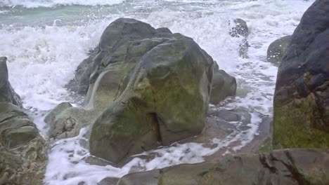
[[[231,27],[230,31],[228,32],[233,37],[243,37],[241,43],[239,44],[239,56],[243,58],[248,58],[248,48],[249,43],[247,41],[247,36],[249,34],[247,23],[245,20],[236,19],[234,20],[233,27]]]

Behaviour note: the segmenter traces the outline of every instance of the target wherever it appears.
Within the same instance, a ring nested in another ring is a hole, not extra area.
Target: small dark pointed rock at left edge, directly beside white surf
[[[0,102],[10,102],[22,107],[20,96],[15,93],[8,81],[7,57],[0,57]]]

